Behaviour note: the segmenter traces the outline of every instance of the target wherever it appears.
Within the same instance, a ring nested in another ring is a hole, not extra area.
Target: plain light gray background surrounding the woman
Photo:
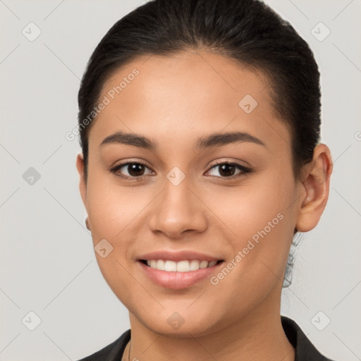
[[[361,360],[361,1],[268,3],[314,51],[322,142],[334,158],[329,204],[298,245],[281,313],[325,355]],[[80,147],[65,134],[92,50],[140,4],[0,0],[0,360],[77,360],[130,327],[98,269],[78,191]],[[22,33],[36,35],[30,22],[41,30],[32,42]]]

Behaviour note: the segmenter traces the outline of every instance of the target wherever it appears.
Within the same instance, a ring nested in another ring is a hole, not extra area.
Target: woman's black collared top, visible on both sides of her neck
[[[288,341],[295,348],[295,361],[332,361],[324,357],[300,329],[293,319],[281,316],[283,330]],[[130,329],[122,334],[116,341],[102,348],[97,353],[82,358],[79,361],[121,361],[124,349],[130,340]]]

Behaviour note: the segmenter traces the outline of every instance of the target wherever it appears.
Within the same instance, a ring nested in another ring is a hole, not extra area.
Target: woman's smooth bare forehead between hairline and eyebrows
[[[271,135],[277,141],[288,132],[274,118],[269,94],[269,79],[261,71],[220,54],[142,56],[104,82],[99,102],[106,98],[108,104],[90,138],[99,144],[120,129],[168,140],[222,130],[267,136],[278,128],[273,133],[279,135]]]

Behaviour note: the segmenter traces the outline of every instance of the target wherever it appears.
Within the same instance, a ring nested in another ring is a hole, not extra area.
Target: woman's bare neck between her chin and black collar
[[[274,307],[274,302],[260,305],[206,336],[190,334],[188,338],[156,333],[130,313],[130,360],[294,361],[295,350],[281,324],[280,302],[278,307]],[[128,360],[128,352],[129,349],[124,352],[124,360]]]

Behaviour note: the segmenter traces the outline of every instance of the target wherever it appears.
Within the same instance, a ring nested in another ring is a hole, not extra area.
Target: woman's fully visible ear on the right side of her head
[[[317,145],[311,163],[305,166],[305,173],[302,174],[305,181],[302,182],[304,195],[296,223],[298,231],[311,231],[319,223],[329,198],[332,168],[329,147]]]

